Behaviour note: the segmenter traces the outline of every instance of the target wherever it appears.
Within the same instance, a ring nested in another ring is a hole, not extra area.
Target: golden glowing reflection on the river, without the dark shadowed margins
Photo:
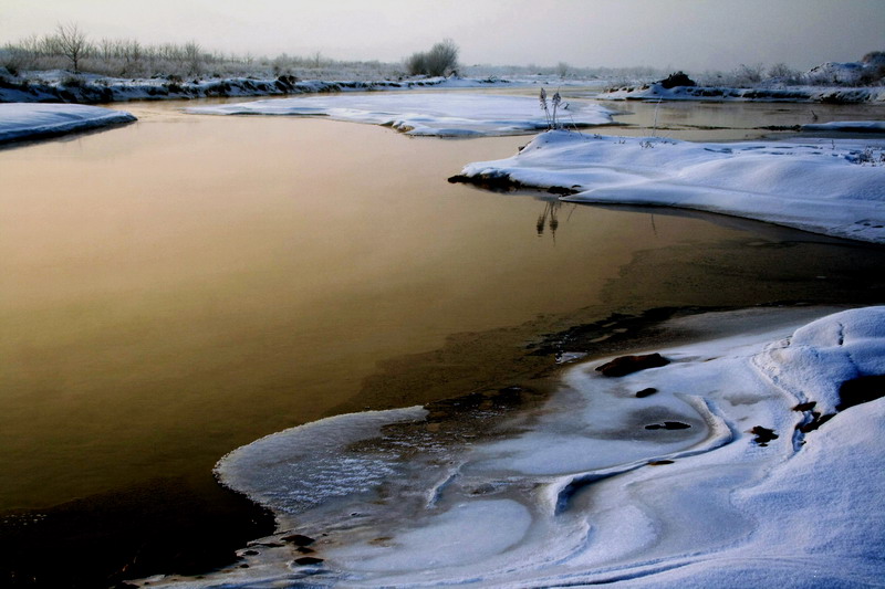
[[[637,250],[732,233],[566,206],[554,242],[543,202],[446,182],[527,138],[137,108],[0,151],[0,508],[208,472],[379,360],[587,306]]]

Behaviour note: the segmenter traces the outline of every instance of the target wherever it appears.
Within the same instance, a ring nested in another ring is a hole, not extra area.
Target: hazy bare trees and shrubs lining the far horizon
[[[458,63],[459,48],[447,39],[426,52],[402,62],[337,61],[319,51],[310,55],[273,57],[225,54],[208,51],[196,41],[145,44],[135,39],[91,39],[77,24],[59,24],[52,33],[31,35],[0,46],[0,67],[18,76],[23,72],[67,70],[74,74],[110,77],[233,77],[296,76],[312,80],[382,81],[414,75],[469,77],[559,76],[603,80],[613,86],[650,82],[669,71],[655,67],[582,67],[564,61],[555,65],[465,65]],[[847,67],[846,67],[847,66]],[[693,77],[700,85],[754,87],[758,85],[820,84],[877,85],[885,75],[885,52],[867,53],[856,64],[823,64],[800,73],[783,63],[740,65],[730,72],[704,72]]]

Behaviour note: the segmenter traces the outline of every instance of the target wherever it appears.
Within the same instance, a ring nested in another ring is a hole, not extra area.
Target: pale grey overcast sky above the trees
[[[445,38],[466,64],[779,63],[885,51],[885,0],[0,0],[0,44],[76,22],[91,39],[399,61]]]

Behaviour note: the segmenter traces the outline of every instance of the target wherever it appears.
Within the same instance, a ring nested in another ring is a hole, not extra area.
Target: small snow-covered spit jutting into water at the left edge
[[[54,137],[80,130],[131,123],[123,111],[81,104],[0,104],[0,144]]]

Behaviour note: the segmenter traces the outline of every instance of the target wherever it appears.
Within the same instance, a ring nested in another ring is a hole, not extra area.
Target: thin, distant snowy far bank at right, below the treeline
[[[624,86],[600,92],[605,101],[742,101],[771,103],[885,103],[885,87],[788,86],[778,88],[731,88],[722,86],[675,86],[662,84]]]

